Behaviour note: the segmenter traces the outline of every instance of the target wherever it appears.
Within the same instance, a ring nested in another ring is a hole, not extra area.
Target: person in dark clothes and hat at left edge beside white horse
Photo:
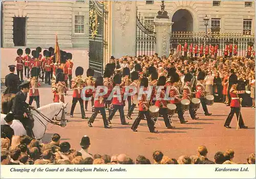
[[[9,112],[5,116],[6,123],[4,125],[1,125],[1,138],[8,138],[10,139],[10,143],[12,142],[12,136],[14,135],[14,131],[12,127],[10,126],[13,121],[13,113]]]

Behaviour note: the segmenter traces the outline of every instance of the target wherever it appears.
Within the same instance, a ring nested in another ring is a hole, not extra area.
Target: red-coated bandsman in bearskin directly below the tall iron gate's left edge
[[[86,86],[95,86],[95,79],[93,78],[94,76],[94,69],[92,68],[88,68],[87,72],[86,72],[87,78],[84,79],[84,81],[86,82]],[[86,90],[86,97],[92,97],[91,98],[91,103],[92,103],[92,107],[94,105],[94,97],[93,97],[93,90],[92,89],[87,89]],[[88,100],[85,101],[85,108],[86,111],[88,111]]]

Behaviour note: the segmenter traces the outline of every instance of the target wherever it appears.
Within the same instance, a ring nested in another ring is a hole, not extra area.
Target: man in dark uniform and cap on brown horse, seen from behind
[[[20,84],[17,74],[14,74],[15,65],[9,65],[10,73],[5,76],[6,90],[4,94],[16,94],[18,92],[18,85]]]

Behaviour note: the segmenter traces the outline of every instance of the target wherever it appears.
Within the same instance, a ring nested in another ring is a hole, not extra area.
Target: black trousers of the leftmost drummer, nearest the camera
[[[144,119],[144,117],[146,117],[146,122],[147,122],[147,126],[148,129],[150,130],[150,132],[153,132],[155,130],[154,128],[154,122],[150,117],[150,111],[139,111],[138,117],[135,119],[131,129],[132,130],[136,130],[138,128],[138,125],[140,124],[140,120]]]

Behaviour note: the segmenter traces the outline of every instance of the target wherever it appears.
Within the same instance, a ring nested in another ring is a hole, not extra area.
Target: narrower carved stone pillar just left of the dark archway
[[[170,19],[155,18],[155,32],[156,32],[156,53],[159,57],[165,55],[169,56],[170,50],[170,26],[172,24]]]

